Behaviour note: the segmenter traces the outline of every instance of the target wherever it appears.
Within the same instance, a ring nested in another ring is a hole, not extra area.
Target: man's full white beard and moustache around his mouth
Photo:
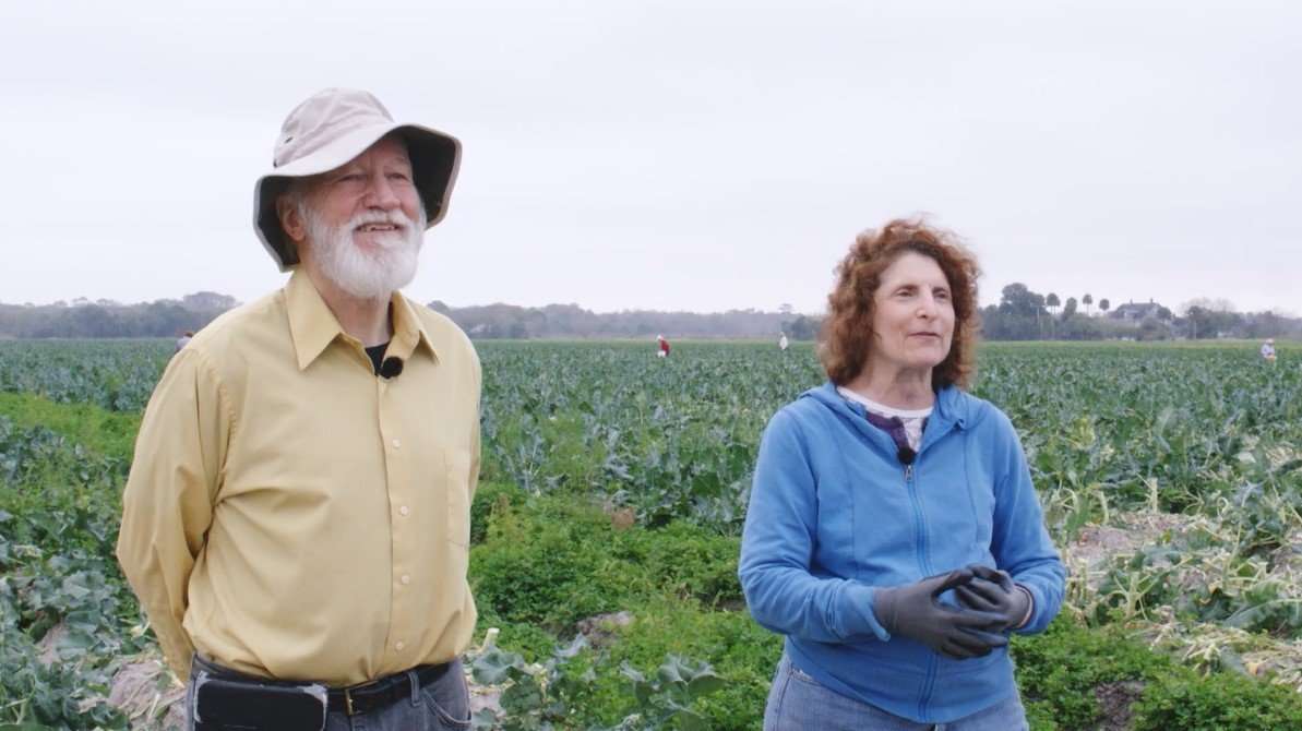
[[[421,245],[424,242],[424,209],[413,221],[401,211],[363,212],[346,224],[331,228],[312,208],[299,209],[311,242],[312,259],[322,274],[358,299],[388,299],[415,277]],[[402,230],[371,234],[379,251],[367,252],[353,243],[353,232],[366,224],[393,224]]]

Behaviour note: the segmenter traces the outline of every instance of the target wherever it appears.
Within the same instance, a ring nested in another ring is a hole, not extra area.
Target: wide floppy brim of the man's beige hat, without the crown
[[[328,173],[365,152],[380,138],[397,133],[408,144],[411,157],[411,176],[421,202],[424,204],[426,224],[431,226],[448,213],[452,187],[461,166],[461,142],[439,130],[405,124],[385,124],[354,130],[331,144],[305,155],[293,163],[275,168],[254,183],[253,228],[262,245],[276,260],[281,272],[298,264],[298,250],[280,226],[276,199],[294,179]]]

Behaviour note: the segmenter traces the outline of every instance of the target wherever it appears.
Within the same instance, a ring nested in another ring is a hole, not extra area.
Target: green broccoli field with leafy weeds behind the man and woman
[[[737,552],[812,346],[487,341],[471,509],[482,728],[759,728],[781,639]],[[0,341],[0,730],[165,728],[113,558],[172,345]],[[988,343],[1070,576],[1013,656],[1032,728],[1302,728],[1302,347]],[[310,407],[310,406],[307,406]]]

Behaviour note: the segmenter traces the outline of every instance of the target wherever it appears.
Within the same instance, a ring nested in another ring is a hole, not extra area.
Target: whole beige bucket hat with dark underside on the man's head
[[[294,178],[333,170],[395,131],[408,143],[413,182],[424,203],[428,229],[448,212],[461,164],[457,138],[421,125],[397,124],[379,99],[354,88],[318,91],[285,117],[272,170],[258,178],[253,190],[253,228],[281,272],[298,264],[298,251],[280,228],[280,194]]]

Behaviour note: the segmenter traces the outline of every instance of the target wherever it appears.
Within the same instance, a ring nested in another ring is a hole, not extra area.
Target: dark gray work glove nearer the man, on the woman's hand
[[[911,637],[954,659],[983,657],[1008,644],[1008,637],[988,631],[997,631],[1003,617],[954,609],[937,601],[940,594],[971,580],[971,570],[960,568],[917,584],[878,589],[874,613],[892,635]]]

